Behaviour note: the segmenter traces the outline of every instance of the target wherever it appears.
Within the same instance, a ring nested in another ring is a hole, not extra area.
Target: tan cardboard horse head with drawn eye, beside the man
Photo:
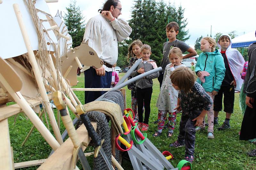
[[[77,84],[76,71],[79,65],[75,59],[76,57],[81,64],[84,64],[84,66],[100,68],[103,65],[103,61],[99,59],[98,54],[88,46],[88,40],[85,42],[84,39],[80,46],[71,49],[66,55],[61,57],[62,75],[64,75],[68,71],[68,68],[72,66],[66,77],[70,82],[70,86],[75,86]]]

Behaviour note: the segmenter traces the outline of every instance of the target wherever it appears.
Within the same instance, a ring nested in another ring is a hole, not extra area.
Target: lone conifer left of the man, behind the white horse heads
[[[68,28],[68,33],[72,37],[73,47],[80,46],[84,37],[84,17],[79,6],[76,6],[76,0],[70,2],[66,8],[67,14],[64,15],[64,21]]]

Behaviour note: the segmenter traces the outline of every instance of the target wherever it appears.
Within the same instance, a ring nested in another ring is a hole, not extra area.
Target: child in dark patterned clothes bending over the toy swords
[[[188,67],[180,67],[172,71],[170,76],[172,86],[180,90],[177,109],[182,108],[180,118],[180,134],[178,140],[170,144],[170,147],[186,146],[185,160],[194,160],[196,130],[195,127],[202,124],[203,119],[212,107],[211,97],[196,81],[194,72]]]

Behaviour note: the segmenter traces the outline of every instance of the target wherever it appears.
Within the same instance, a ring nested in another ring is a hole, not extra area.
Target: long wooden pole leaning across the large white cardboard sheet
[[[45,104],[46,110],[47,110],[49,118],[50,118],[50,122],[51,122],[51,125],[52,125],[53,132],[54,132],[54,134],[56,136],[56,139],[59,142],[59,144],[62,144],[63,140],[61,138],[60,131],[59,131],[56,119],[54,117],[51,105],[49,103],[49,100],[48,100],[48,97],[47,97],[47,94],[46,94],[46,90],[44,88],[44,83],[43,83],[43,80],[42,80],[42,76],[40,74],[40,71],[38,69],[38,65],[36,63],[35,54],[33,53],[32,47],[30,45],[29,36],[28,36],[27,31],[26,31],[26,27],[24,25],[24,22],[23,22],[21,13],[20,13],[19,5],[18,4],[13,4],[13,8],[14,8],[18,23],[20,25],[20,31],[22,33],[26,48],[28,50],[29,63],[31,64],[33,72],[35,74],[35,78],[36,78],[36,82],[37,82],[39,91],[41,93],[41,96],[42,96],[43,100],[48,101],[48,102],[45,102],[44,104]],[[46,56],[41,56],[41,57],[46,57]]]

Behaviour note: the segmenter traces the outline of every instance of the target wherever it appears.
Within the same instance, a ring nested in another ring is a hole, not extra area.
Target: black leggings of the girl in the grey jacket
[[[148,119],[150,115],[150,101],[152,96],[152,87],[146,89],[136,88],[137,102],[138,102],[138,116],[139,122],[148,124]],[[143,121],[143,103],[145,107],[145,118]]]

